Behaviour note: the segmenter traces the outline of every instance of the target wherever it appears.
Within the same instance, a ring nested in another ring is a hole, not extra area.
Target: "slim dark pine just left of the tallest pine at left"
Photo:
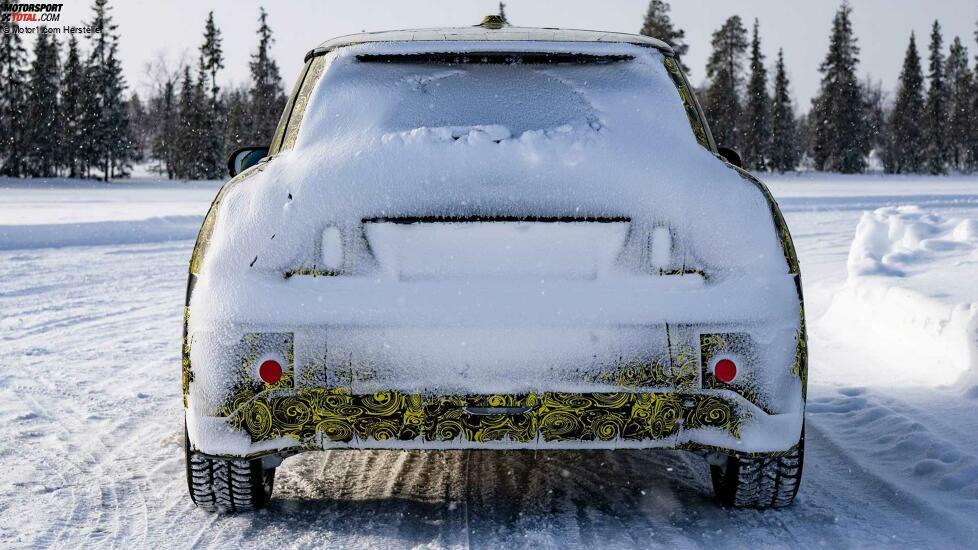
[[[82,175],[80,161],[81,144],[84,139],[84,97],[85,68],[78,52],[78,40],[72,34],[68,38],[68,55],[65,59],[64,74],[61,79],[61,166],[68,169],[68,177]]]

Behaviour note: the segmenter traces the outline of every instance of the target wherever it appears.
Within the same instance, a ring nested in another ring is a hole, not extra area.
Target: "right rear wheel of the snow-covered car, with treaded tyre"
[[[725,464],[710,466],[713,491],[728,508],[783,508],[798,494],[804,457],[804,431],[798,446],[783,456],[728,456]]]

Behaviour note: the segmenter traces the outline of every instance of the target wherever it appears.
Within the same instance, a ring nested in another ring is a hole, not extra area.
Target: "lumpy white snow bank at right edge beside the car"
[[[881,382],[943,385],[978,373],[978,220],[917,206],[863,214],[848,280],[821,328],[889,366]]]

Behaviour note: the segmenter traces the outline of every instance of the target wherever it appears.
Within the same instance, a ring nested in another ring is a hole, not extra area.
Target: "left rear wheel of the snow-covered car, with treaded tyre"
[[[275,482],[275,468],[262,467],[262,460],[224,460],[190,449],[184,435],[187,486],[190,498],[208,512],[245,512],[268,503]]]

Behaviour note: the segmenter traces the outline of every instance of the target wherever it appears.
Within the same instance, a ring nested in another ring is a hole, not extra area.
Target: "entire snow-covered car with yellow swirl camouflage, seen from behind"
[[[305,59],[191,260],[199,506],[321,449],[682,449],[722,505],[791,503],[798,262],[669,46],[487,18]]]

